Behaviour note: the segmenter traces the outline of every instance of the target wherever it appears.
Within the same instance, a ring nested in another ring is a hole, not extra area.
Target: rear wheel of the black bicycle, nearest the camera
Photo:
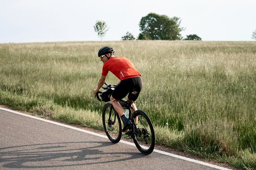
[[[135,118],[138,117],[138,124],[135,125]],[[133,130],[132,136],[138,150],[143,154],[151,154],[155,147],[155,132],[148,115],[142,110],[136,110],[132,118]]]

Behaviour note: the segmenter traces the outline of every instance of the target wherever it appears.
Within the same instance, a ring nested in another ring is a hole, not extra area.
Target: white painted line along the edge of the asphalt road
[[[61,124],[61,123],[58,123],[58,122],[55,122],[55,121],[50,121],[50,120],[46,120],[46,119],[42,119],[42,118],[37,118],[35,116],[31,116],[31,115],[28,115],[28,114],[16,112],[16,111],[5,109],[5,108],[2,108],[2,107],[0,107],[0,110],[4,110],[4,111],[7,111],[7,112],[12,112],[12,113],[19,114],[19,115],[22,115],[22,116],[26,116],[26,117],[29,117],[29,118],[45,121],[45,122],[48,122],[48,123],[52,123],[54,125],[59,125],[59,126],[62,126],[62,127],[67,127],[67,128],[70,128],[70,129],[78,130],[80,132],[85,132],[87,134],[95,135],[95,136],[98,136],[98,137],[104,137],[104,138],[108,139],[107,136],[104,136],[104,135],[101,135],[101,134],[97,134],[95,132],[90,132],[88,130],[83,130],[83,129],[80,129],[80,128],[72,127],[72,126],[69,126],[69,125],[64,125],[64,124]],[[135,144],[131,143],[131,142],[127,142],[127,141],[123,141],[123,140],[121,140],[120,142],[121,143],[125,143],[127,145],[135,146]],[[189,162],[197,163],[197,164],[204,165],[204,166],[209,166],[211,168],[216,168],[216,169],[219,169],[219,170],[230,170],[228,168],[224,168],[224,167],[221,167],[221,166],[213,165],[213,164],[202,162],[202,161],[197,161],[195,159],[191,159],[191,158],[187,158],[187,157],[171,154],[171,153],[164,152],[164,151],[157,150],[157,149],[154,149],[153,152],[157,152],[159,154],[164,154],[164,155],[171,156],[171,157],[176,157],[178,159],[183,159],[183,160],[186,160],[186,161],[189,161]]]

